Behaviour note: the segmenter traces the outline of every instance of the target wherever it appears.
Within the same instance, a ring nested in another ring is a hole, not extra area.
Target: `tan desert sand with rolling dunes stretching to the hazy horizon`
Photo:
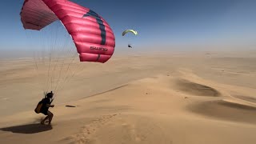
[[[51,126],[34,113],[42,91],[32,61],[0,62],[1,144],[256,143],[255,52],[86,63],[56,94]]]

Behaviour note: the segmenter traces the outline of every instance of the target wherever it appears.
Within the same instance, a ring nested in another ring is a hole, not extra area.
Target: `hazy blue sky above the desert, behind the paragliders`
[[[116,49],[125,49],[126,29],[138,30],[134,45],[253,45],[256,42],[255,0],[72,0],[101,15],[114,30]],[[22,50],[25,30],[20,21],[22,0],[0,5],[0,48]],[[129,37],[130,38],[130,37]],[[130,40],[129,40],[130,41]]]

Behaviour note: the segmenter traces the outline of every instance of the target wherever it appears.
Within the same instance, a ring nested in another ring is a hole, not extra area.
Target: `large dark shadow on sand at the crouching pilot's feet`
[[[52,126],[41,125],[40,123],[0,128],[2,131],[11,131],[20,134],[35,134],[52,129]]]

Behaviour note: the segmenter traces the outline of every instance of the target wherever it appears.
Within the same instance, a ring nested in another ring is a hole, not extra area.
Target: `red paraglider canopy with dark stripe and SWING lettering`
[[[25,29],[41,30],[60,20],[74,40],[81,62],[106,62],[115,38],[108,23],[93,10],[68,0],[25,0],[20,13]]]

